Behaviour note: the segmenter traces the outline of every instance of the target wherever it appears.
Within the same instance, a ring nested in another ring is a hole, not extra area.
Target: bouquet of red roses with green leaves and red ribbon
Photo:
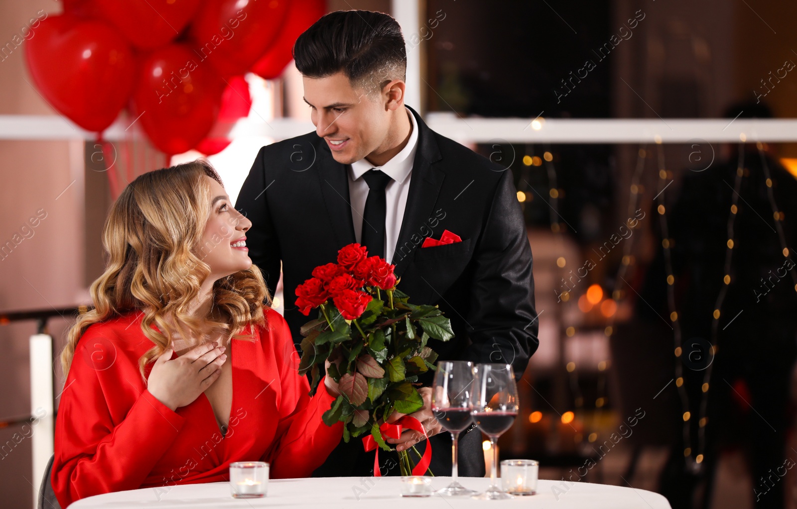
[[[316,267],[312,278],[296,288],[296,305],[304,315],[319,308],[318,317],[301,328],[300,373],[312,374],[315,393],[329,359],[326,374],[338,382],[340,396],[324,413],[324,422],[346,423],[345,441],[370,433],[363,440],[367,448],[371,443],[391,450],[383,438],[383,433],[392,436],[390,426],[383,422],[393,412],[421,409],[418,375],[434,370],[437,358],[426,343],[453,338],[451,323],[437,306],[409,303],[409,296],[396,288],[395,265],[367,256],[364,246],[345,246],[337,262]],[[400,429],[394,426],[392,432]],[[412,467],[406,451],[399,459],[402,474],[408,475]]]

